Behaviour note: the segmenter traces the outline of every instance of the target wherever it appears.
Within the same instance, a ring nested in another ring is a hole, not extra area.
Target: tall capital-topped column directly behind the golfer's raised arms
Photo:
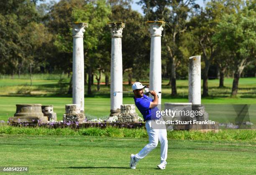
[[[147,24],[151,35],[149,88],[161,91],[161,33],[165,23],[164,21],[148,21]],[[161,104],[161,93],[158,96],[158,103]]]

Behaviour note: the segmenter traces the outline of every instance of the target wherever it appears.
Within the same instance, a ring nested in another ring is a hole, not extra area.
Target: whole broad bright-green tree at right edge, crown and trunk
[[[244,67],[252,63],[256,48],[256,9],[251,2],[238,6],[236,13],[223,15],[218,24],[214,39],[220,47],[230,51],[233,56],[230,64],[234,70],[232,96],[238,92],[238,82]]]

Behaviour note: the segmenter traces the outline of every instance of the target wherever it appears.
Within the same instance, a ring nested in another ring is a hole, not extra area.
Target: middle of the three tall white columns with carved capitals
[[[122,65],[122,32],[125,23],[108,23],[111,32],[111,69],[110,69],[110,116],[120,113],[120,106],[123,104],[123,93],[115,91],[123,91],[123,65]]]

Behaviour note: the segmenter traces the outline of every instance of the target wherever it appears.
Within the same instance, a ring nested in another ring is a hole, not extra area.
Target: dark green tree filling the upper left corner
[[[0,73],[14,74],[23,67],[23,30],[38,20],[36,7],[30,0],[0,1]]]

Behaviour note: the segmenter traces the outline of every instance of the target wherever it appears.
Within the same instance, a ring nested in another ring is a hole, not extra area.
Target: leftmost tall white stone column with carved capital
[[[73,104],[84,112],[84,28],[87,23],[69,23],[73,33]]]

